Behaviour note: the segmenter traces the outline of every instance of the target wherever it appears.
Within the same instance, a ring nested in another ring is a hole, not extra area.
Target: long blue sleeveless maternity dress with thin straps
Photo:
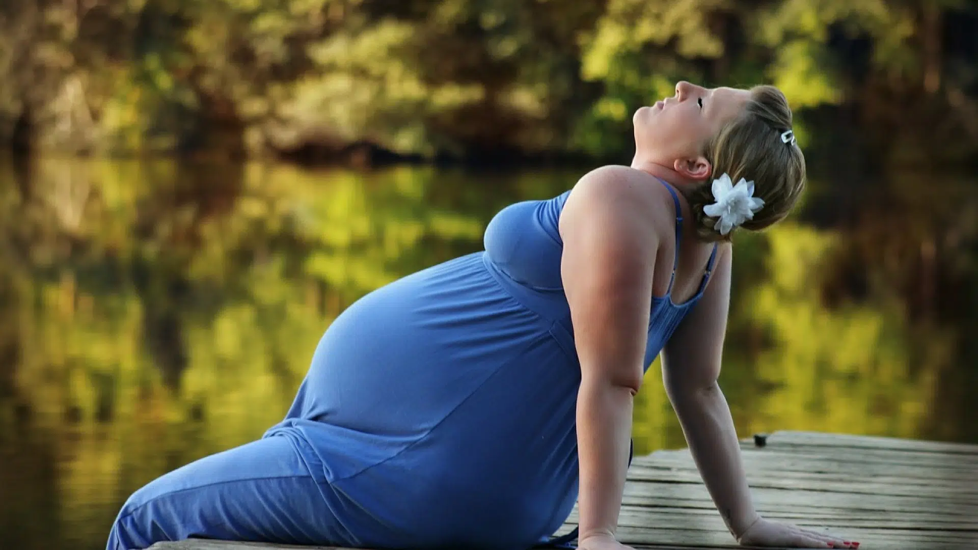
[[[677,260],[682,221],[675,190]],[[484,251],[361,298],[329,327],[286,418],[136,491],[109,550],[205,537],[523,550],[578,490],[580,367],[560,283],[569,191],[507,206]],[[703,293],[651,298],[645,365]],[[675,264],[673,267],[675,276]]]

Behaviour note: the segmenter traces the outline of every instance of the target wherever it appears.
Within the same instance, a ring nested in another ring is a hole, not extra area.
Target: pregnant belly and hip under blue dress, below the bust
[[[322,434],[331,498],[364,545],[526,547],[560,526],[576,498],[580,376],[549,330],[478,255],[333,322],[296,414],[320,427],[308,432]]]

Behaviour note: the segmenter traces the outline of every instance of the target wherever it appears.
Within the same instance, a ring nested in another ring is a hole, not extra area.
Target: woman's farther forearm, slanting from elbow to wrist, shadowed
[[[703,482],[727,527],[739,538],[758,515],[740,461],[727,399],[716,384],[706,389],[667,386],[667,390]]]

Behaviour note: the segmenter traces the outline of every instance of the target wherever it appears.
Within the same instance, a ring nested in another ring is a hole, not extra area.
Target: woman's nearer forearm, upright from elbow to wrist
[[[614,533],[618,525],[628,470],[633,394],[633,389],[606,380],[586,379],[578,391],[580,539]]]

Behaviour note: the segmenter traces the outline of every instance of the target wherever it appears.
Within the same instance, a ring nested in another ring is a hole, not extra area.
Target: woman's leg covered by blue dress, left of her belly
[[[343,540],[320,487],[288,437],[271,436],[150,482],[122,507],[108,550],[216,538],[292,544]]]

